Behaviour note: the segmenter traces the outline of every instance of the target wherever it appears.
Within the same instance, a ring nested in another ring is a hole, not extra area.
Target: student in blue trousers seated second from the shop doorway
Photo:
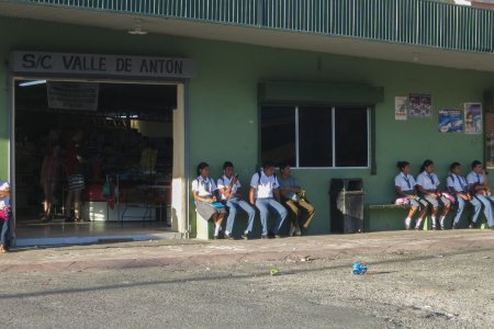
[[[223,177],[217,180],[217,188],[223,201],[226,201],[226,207],[228,208],[228,218],[226,218],[225,239],[234,239],[232,231],[235,223],[235,216],[237,209],[242,208],[247,213],[248,223],[247,228],[242,234],[244,240],[249,239],[249,234],[252,230],[254,217],[256,211],[242,198],[240,181],[238,174],[234,174],[234,166],[231,161],[223,163]]]

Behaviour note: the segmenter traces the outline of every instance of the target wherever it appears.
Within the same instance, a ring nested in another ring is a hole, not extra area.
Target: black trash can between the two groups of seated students
[[[329,188],[330,231],[363,232],[363,182],[333,179]]]

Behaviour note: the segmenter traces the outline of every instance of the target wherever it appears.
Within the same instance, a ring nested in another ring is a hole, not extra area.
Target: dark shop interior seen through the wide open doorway
[[[48,236],[57,227],[75,226],[88,226],[87,234],[136,224],[170,228],[176,84],[14,83],[18,237]],[[77,169],[83,177],[78,215],[74,203],[67,204],[67,159],[76,135]],[[46,216],[48,181],[53,192]],[[74,215],[79,218],[74,220]]]

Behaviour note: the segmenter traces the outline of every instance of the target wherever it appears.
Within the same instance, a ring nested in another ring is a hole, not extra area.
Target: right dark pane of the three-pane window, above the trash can
[[[368,167],[367,107],[336,107],[336,167]]]

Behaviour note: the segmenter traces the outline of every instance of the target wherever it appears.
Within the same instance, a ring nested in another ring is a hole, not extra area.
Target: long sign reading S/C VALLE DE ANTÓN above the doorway
[[[188,58],[13,52],[10,68],[18,73],[65,76],[192,78],[195,61]]]

